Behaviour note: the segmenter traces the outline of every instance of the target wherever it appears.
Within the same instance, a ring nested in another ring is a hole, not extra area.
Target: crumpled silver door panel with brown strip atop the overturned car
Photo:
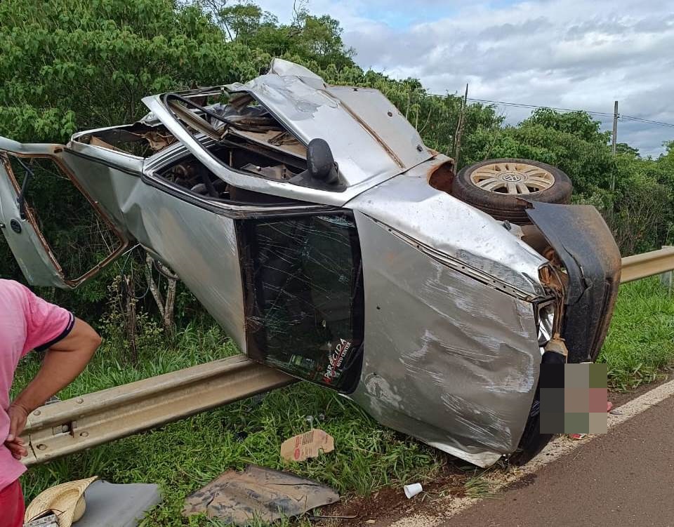
[[[275,58],[267,74],[225,88],[252,95],[300,142],[326,140],[348,186],[396,175],[435,155],[380,91],[330,86],[287,60]]]

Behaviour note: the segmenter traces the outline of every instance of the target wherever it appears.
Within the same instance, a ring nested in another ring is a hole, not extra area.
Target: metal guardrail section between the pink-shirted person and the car
[[[91,448],[295,382],[243,355],[41,406],[22,439],[25,465]]]

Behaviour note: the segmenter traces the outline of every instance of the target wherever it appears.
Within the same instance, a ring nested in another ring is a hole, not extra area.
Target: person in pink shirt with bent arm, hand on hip
[[[20,439],[29,413],[67,386],[84,370],[100,345],[91,326],[42,300],[27,287],[0,279],[0,523],[23,525],[24,500],[19,476],[27,449]],[[46,351],[42,366],[10,402],[19,359],[32,349]]]

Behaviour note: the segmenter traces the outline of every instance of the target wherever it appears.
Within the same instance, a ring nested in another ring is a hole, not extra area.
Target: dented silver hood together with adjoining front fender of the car
[[[349,204],[366,277],[367,352],[352,397],[390,427],[488,466],[517,448],[536,391],[533,302],[550,298],[538,279],[548,260],[430,187],[428,171]]]

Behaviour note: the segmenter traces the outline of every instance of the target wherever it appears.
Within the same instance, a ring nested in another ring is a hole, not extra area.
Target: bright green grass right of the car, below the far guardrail
[[[609,386],[626,391],[653,382],[674,362],[674,295],[657,277],[621,286],[599,361]]]

